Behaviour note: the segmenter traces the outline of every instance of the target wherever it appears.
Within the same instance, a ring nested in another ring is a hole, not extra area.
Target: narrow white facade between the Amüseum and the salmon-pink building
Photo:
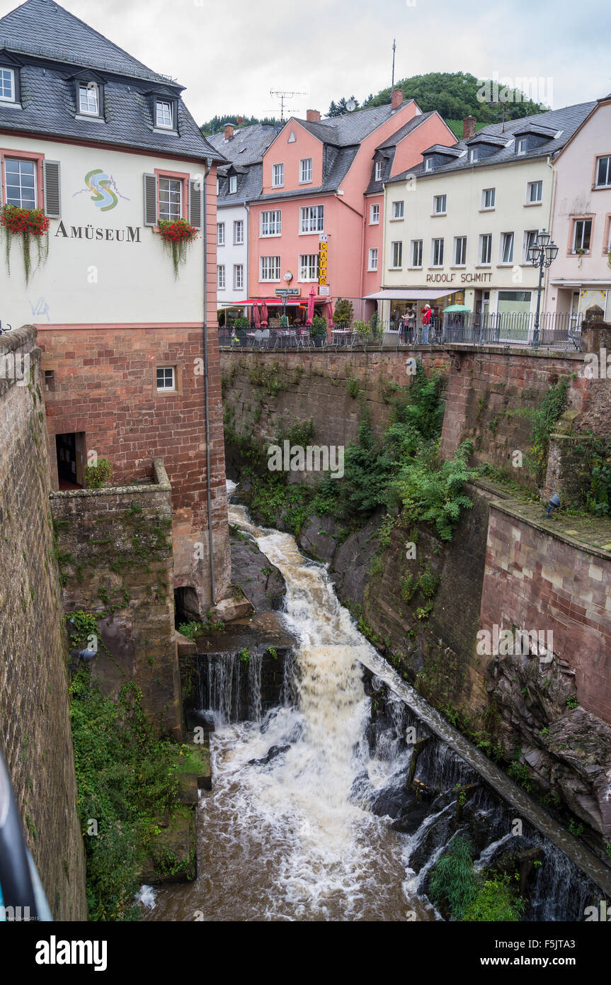
[[[248,208],[243,204],[216,209],[217,303],[227,307],[248,297]]]

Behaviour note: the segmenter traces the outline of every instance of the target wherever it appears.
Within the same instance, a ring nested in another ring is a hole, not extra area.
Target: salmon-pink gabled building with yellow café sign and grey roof
[[[289,119],[263,155],[262,193],[250,203],[249,295],[288,288],[305,303],[314,285],[317,305],[348,297],[355,318],[371,317],[375,302],[363,298],[381,283],[383,182],[432,144],[454,143],[439,113],[404,102],[400,90],[387,105]]]

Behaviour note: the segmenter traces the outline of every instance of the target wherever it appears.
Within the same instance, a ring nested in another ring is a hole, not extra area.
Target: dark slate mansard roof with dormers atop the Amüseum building
[[[64,60],[66,45],[72,53]],[[27,0],[2,18],[0,50],[3,47],[23,63],[23,108],[0,101],[0,129],[117,144],[174,158],[224,160],[202,136],[181,99],[183,87],[156,75],[51,0]],[[76,84],[71,76],[92,67],[104,79],[104,118],[77,119]],[[154,130],[146,94],[157,86],[178,100],[177,136]]]

